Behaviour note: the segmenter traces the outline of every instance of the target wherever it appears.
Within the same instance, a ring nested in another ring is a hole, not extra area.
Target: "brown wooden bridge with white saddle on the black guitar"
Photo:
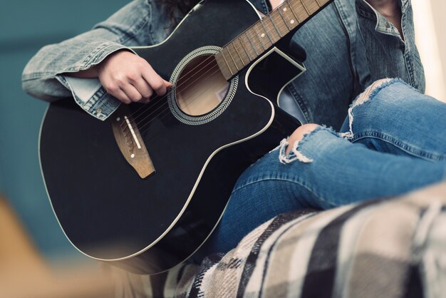
[[[147,178],[155,173],[155,167],[145,148],[138,126],[135,125],[128,112],[128,108],[121,105],[114,113],[113,135],[125,160],[136,170],[140,178]]]

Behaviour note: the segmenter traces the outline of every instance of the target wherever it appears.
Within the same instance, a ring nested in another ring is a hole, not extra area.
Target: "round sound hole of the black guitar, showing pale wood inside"
[[[229,83],[217,66],[213,55],[193,58],[182,69],[177,80],[177,104],[183,113],[204,115],[224,100]]]

